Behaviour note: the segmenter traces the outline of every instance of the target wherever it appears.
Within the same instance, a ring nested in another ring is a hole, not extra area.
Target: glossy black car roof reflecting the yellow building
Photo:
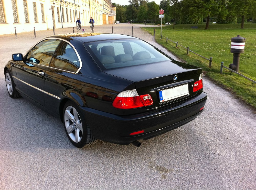
[[[99,40],[109,40],[109,39],[138,39],[133,36],[123,35],[123,34],[109,34],[109,33],[70,33],[70,34],[58,34],[53,36],[48,36],[47,38],[61,38],[67,41],[71,39],[80,40],[82,42],[93,42]]]

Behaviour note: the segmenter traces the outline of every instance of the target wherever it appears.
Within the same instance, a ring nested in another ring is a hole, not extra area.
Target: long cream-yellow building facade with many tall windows
[[[111,0],[0,0],[0,34],[115,23]]]

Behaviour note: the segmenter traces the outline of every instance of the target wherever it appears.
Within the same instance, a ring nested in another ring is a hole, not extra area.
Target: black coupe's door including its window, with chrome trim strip
[[[20,91],[40,105],[44,105],[45,71],[60,40],[45,39],[35,45],[17,65]]]

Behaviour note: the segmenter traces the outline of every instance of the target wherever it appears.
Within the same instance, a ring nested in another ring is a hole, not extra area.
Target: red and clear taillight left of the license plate
[[[149,94],[139,96],[135,89],[120,92],[112,103],[113,107],[119,109],[132,109],[152,104],[153,100]]]

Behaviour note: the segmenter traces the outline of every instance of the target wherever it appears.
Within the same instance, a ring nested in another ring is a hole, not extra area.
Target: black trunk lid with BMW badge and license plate
[[[202,69],[182,62],[164,61],[107,69],[103,72],[134,82],[139,95],[150,94],[153,104],[146,106],[147,109],[173,106],[202,92],[202,90],[193,92],[193,85],[199,80]],[[179,96],[173,95],[184,90],[185,92]],[[161,95],[165,98],[163,99]]]

